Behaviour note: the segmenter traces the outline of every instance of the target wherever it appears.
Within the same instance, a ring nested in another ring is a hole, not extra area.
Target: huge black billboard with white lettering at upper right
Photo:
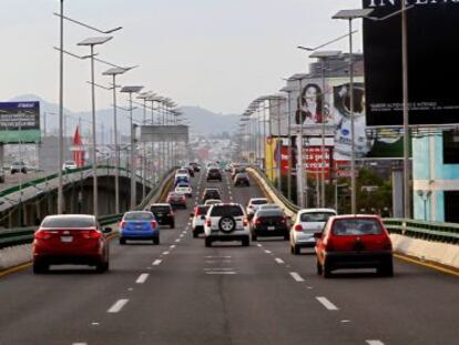
[[[406,0],[409,124],[459,122],[459,98],[448,80],[459,79],[458,1]],[[401,0],[363,0],[382,18]],[[364,20],[367,125],[402,124],[401,16]]]

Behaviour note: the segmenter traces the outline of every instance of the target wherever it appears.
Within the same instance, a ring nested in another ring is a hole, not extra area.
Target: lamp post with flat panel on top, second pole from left
[[[98,195],[98,154],[96,154],[96,134],[95,134],[95,87],[94,87],[94,45],[103,44],[113,37],[89,38],[78,43],[78,45],[89,45],[91,48],[91,100],[92,100],[92,173],[93,173],[93,214],[99,215],[99,195]],[[59,168],[60,170],[62,166]]]

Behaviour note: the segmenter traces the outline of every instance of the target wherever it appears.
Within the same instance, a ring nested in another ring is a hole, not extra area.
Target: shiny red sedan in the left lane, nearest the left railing
[[[109,270],[109,240],[95,216],[84,214],[49,215],[33,240],[33,273],[50,265],[90,265],[99,273]]]

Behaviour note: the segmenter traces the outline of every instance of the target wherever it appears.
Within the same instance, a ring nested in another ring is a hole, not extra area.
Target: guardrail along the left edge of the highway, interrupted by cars
[[[102,166],[99,166],[102,168]],[[91,169],[91,168],[88,168]],[[85,169],[85,170],[88,170]],[[173,171],[169,171],[163,176],[163,183],[159,184],[149,195],[142,201],[142,203],[136,207],[137,210],[143,210],[150,202],[150,200],[156,195],[159,192],[163,192],[165,187],[170,186],[171,177],[173,176]],[[114,224],[121,221],[123,213],[120,214],[110,214],[99,217],[99,223],[102,226]],[[33,235],[38,226],[28,226],[28,227],[17,227],[11,230],[0,231],[0,248],[21,245],[27,243],[32,243]]]

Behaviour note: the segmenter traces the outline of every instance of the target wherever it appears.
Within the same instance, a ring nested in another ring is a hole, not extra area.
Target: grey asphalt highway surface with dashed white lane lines
[[[206,186],[193,180],[198,195]],[[212,183],[246,204],[257,186]],[[458,344],[458,277],[396,260],[395,277],[315,273],[282,239],[204,246],[187,211],[161,245],[111,244],[111,271],[0,278],[0,344]]]

